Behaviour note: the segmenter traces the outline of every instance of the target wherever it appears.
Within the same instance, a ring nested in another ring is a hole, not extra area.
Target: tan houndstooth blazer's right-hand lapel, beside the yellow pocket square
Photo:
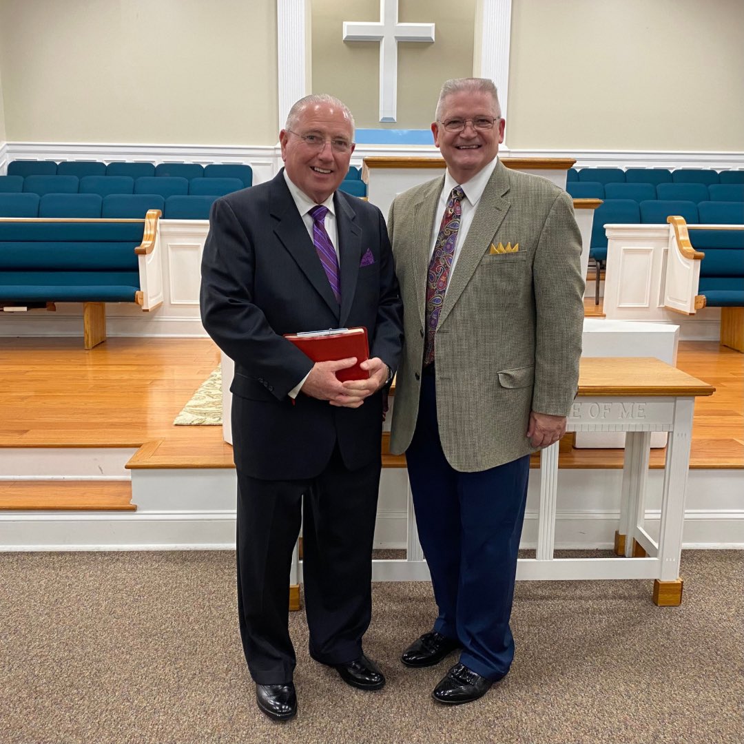
[[[455,263],[455,269],[449,279],[444,304],[439,314],[439,325],[455,306],[475,273],[475,269],[478,268],[478,264],[481,263],[484,253],[488,250],[494,233],[504,221],[511,205],[511,202],[504,199],[504,194],[508,190],[509,180],[506,166],[498,161],[483,191],[483,196],[478,202],[478,207],[475,209],[465,242]]]

